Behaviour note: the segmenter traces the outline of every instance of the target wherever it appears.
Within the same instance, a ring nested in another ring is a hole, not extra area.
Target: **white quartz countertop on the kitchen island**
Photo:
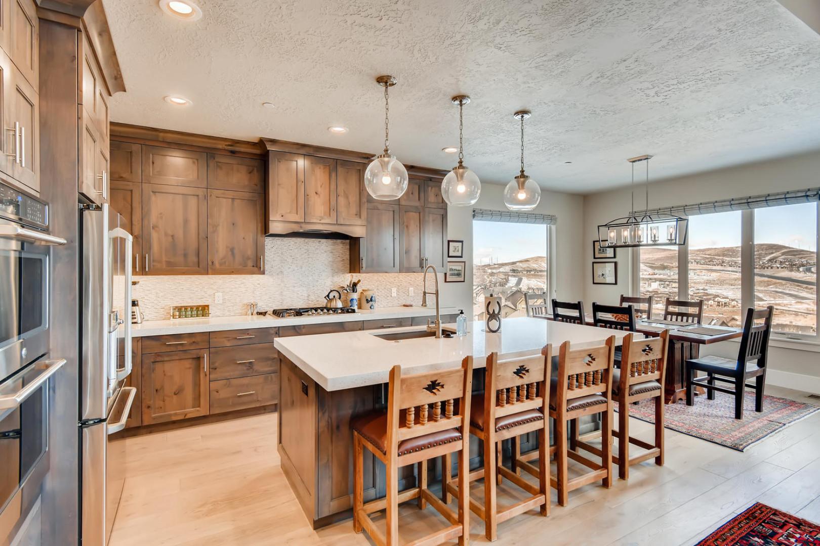
[[[509,356],[539,354],[548,343],[553,354],[564,341],[574,348],[601,345],[609,336],[620,342],[627,333],[543,318],[507,318],[500,333],[486,333],[481,321],[467,323],[467,336],[421,337],[385,341],[376,334],[423,331],[425,327],[386,331],[342,332],[315,336],[279,337],[274,346],[325,390],[344,390],[389,381],[390,368],[400,364],[410,373],[430,372],[461,364],[474,357],[473,368],[484,368],[485,357],[498,351]],[[643,339],[644,336],[639,336]]]

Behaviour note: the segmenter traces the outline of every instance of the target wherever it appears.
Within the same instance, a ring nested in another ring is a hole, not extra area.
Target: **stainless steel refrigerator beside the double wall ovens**
[[[131,372],[131,235],[104,204],[80,209],[80,539],[107,544],[125,485]],[[119,345],[119,347],[118,347]],[[124,365],[118,365],[118,349]]]

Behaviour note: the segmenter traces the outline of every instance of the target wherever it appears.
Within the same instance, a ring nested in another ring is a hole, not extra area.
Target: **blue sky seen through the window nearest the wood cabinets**
[[[547,227],[530,223],[472,223],[473,264],[547,255]]]

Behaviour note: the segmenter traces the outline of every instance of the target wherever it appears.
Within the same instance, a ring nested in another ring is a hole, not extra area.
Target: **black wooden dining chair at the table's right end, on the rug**
[[[766,309],[749,308],[740,338],[737,359],[720,356],[704,356],[686,361],[686,405],[695,404],[695,386],[706,389],[708,399],[715,399],[715,390],[735,396],[735,418],[743,418],[743,398],[745,390],[754,389],[754,411],[763,411],[763,390],[766,386],[766,363],[768,342],[772,335],[772,315],[774,307]],[[756,323],[756,321],[763,321]],[[696,372],[705,372],[695,377]],[[746,383],[754,377],[754,383]],[[735,388],[715,385],[715,381],[734,383]]]

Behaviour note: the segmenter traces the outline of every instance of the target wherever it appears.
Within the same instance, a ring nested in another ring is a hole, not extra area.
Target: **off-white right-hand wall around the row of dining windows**
[[[652,161],[662,161],[658,157]],[[624,164],[624,169],[628,165]],[[701,201],[714,201],[729,197],[752,196],[768,192],[804,189],[820,186],[820,152],[794,156],[757,164],[742,165],[730,169],[720,169],[703,174],[651,183],[649,186],[649,208],[665,205],[686,205]],[[635,190],[635,202],[644,203],[643,187]],[[598,224],[606,223],[628,213],[631,206],[629,187],[611,192],[595,193],[584,197],[584,249],[583,261],[584,303],[591,306],[599,303],[617,303],[618,296],[629,294],[631,289],[631,249],[617,250],[617,285],[592,284],[592,241],[598,238]],[[636,205],[640,206],[640,205]],[[786,345],[786,344],[781,344]],[[791,347],[799,346],[789,344]],[[812,347],[813,349],[813,347]],[[724,342],[709,347],[714,354],[737,356],[737,344]],[[781,383],[797,381],[799,377],[786,374],[801,374],[820,377],[820,353],[811,350],[795,350],[785,346],[772,346],[769,353],[773,373],[770,381],[775,383],[778,375]],[[814,390],[820,392],[820,380],[811,380]],[[777,383],[775,383],[777,384]],[[789,385],[784,385],[789,386]],[[805,389],[804,389],[805,390]]]

